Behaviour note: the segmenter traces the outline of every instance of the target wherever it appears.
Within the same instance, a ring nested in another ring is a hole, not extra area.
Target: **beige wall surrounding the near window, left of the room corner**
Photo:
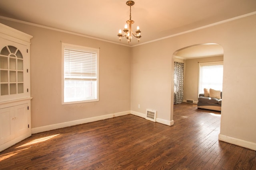
[[[33,36],[30,48],[32,128],[130,111],[130,47],[0,20]],[[99,102],[61,104],[61,42],[100,48]]]

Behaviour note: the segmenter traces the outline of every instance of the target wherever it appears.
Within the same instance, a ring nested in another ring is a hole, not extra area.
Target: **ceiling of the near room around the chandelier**
[[[256,12],[256,0],[134,2],[132,29],[140,26],[140,43]],[[128,45],[117,36],[129,20],[126,0],[0,0],[0,16]],[[137,44],[134,38],[129,45]]]

